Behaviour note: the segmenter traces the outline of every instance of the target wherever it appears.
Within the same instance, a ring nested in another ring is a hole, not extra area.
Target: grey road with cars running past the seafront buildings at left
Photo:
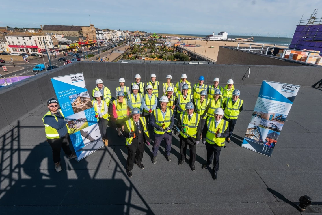
[[[120,41],[120,42],[123,42],[123,41]],[[118,43],[120,43],[120,42],[118,42]],[[110,49],[112,49],[112,45],[114,45],[114,44],[112,43],[112,44],[110,44],[108,46],[102,46],[99,49],[99,53],[101,53],[101,51],[103,51],[103,50],[110,50]],[[94,54],[94,55],[96,55],[97,53],[98,53],[97,49],[95,49],[95,50],[88,50],[88,48],[87,48],[87,54]],[[86,55],[86,51],[85,51],[84,54]],[[83,53],[79,53],[80,57],[84,57],[84,54]],[[64,62],[63,61],[61,61],[61,62],[58,61],[58,59],[60,57],[64,57],[66,60],[71,60],[72,58],[76,58],[76,57],[72,57],[71,55],[67,55],[67,56],[59,55],[59,56],[57,56],[57,58],[55,58],[54,56],[52,56],[51,57],[51,64],[52,64],[52,66],[61,67],[61,66],[64,65]],[[49,66],[49,61],[48,61],[47,56],[45,57],[44,60],[45,60],[46,67],[48,67]],[[19,66],[19,67],[23,67],[23,69],[18,70],[18,71],[13,71],[13,72],[10,72],[10,70],[9,70],[9,73],[2,72],[1,71],[0,74],[2,74],[5,78],[14,77],[14,76],[22,76],[22,75],[33,75],[34,74],[33,73],[33,67],[36,64],[43,64],[43,58],[39,58],[39,59],[35,59],[35,60],[30,60],[30,63],[17,62],[17,63],[15,63],[15,65],[16,66]],[[0,66],[12,66],[12,65],[13,64],[11,62],[0,63]],[[46,70],[43,70],[43,71],[38,72],[38,73],[42,73],[42,72],[45,72],[45,71]]]

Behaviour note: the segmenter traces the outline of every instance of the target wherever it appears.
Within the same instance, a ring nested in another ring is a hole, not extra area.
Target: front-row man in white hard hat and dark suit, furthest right
[[[208,117],[203,130],[203,144],[206,145],[207,163],[201,168],[205,169],[213,160],[213,179],[217,180],[219,170],[219,156],[221,147],[225,147],[225,138],[229,136],[228,122],[222,119],[223,109],[217,107],[214,117]],[[205,141],[204,141],[205,137]]]

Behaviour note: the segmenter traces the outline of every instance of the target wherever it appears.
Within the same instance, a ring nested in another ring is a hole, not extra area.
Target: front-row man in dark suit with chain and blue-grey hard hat
[[[144,152],[144,143],[150,145],[151,139],[145,117],[140,117],[141,110],[134,107],[131,111],[132,118],[125,122],[123,136],[126,138],[125,145],[128,148],[128,160],[126,173],[132,177],[132,169],[135,164],[144,169],[141,164]]]

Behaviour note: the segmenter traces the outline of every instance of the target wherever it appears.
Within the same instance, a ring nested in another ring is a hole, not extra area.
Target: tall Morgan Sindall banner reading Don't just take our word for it
[[[104,145],[83,73],[52,78],[59,105],[70,129],[77,160]]]

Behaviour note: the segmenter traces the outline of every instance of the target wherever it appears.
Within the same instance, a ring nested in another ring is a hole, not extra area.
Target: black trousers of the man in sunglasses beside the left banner
[[[62,136],[61,138],[47,139],[49,145],[52,147],[52,159],[54,163],[60,162],[60,151],[61,149],[68,156],[70,155],[71,149],[69,148],[70,137],[69,134]]]

